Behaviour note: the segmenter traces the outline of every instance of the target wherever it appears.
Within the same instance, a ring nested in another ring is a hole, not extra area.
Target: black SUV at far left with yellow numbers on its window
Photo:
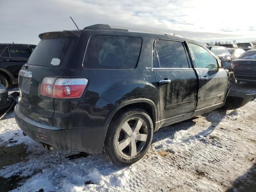
[[[0,83],[5,88],[18,85],[18,74],[36,45],[0,44]]]

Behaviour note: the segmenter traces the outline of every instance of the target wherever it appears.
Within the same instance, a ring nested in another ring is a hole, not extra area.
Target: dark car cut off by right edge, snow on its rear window
[[[233,64],[238,82],[256,82],[256,49],[244,52],[233,60]]]

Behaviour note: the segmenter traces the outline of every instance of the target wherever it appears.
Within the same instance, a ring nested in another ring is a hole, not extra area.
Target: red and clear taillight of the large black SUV
[[[45,77],[41,86],[41,95],[53,98],[80,98],[86,88],[86,78]]]

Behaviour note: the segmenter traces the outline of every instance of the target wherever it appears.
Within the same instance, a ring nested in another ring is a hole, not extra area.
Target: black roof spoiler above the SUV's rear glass
[[[71,31],[56,31],[56,32],[46,32],[38,35],[40,39],[43,38],[66,38],[66,37],[79,37],[81,30],[71,30]]]

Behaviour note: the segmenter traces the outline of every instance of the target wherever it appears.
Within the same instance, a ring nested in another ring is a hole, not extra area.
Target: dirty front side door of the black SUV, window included
[[[194,43],[188,43],[188,47],[199,78],[198,104],[194,114],[197,115],[223,105],[228,77],[207,49]]]

